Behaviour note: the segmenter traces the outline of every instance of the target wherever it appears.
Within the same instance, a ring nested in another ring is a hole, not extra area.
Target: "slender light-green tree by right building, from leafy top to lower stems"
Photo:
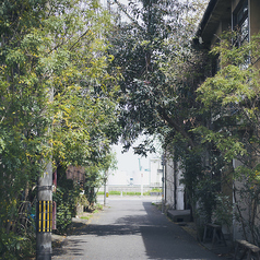
[[[214,142],[227,163],[237,159],[243,164],[235,168],[233,177],[237,218],[245,238],[250,239],[250,234],[251,240],[259,244],[256,212],[259,206],[260,37],[257,35],[239,47],[231,43],[236,37],[236,32],[222,35],[220,45],[213,49],[222,69],[198,88],[204,109],[211,113],[212,126],[198,131],[203,142]]]

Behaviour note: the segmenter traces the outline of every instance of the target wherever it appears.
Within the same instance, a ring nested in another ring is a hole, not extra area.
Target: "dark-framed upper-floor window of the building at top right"
[[[233,29],[239,34],[235,40],[236,46],[240,47],[249,42],[248,0],[243,1],[233,13]]]

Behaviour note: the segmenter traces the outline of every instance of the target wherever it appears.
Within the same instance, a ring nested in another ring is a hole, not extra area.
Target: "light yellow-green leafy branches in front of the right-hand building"
[[[197,130],[204,141],[215,142],[227,161],[239,158],[248,165],[249,157],[257,154],[249,151],[259,142],[260,36],[241,47],[231,45],[231,37],[235,37],[234,33],[223,35],[220,46],[213,49],[221,57],[222,69],[198,88],[199,99],[212,113],[214,130]]]

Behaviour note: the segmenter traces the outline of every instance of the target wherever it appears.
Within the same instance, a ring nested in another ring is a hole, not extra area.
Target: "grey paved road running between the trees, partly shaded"
[[[151,198],[109,198],[54,260],[221,260],[172,223]]]

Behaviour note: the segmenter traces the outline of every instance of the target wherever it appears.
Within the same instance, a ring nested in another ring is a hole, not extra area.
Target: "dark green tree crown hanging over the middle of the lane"
[[[189,39],[202,5],[198,1],[130,2],[132,23],[119,24],[110,36],[111,66],[122,74],[118,109],[126,150],[140,133],[159,134],[165,144],[180,133],[193,146],[188,130],[194,118],[200,120],[194,90],[203,66]],[[139,154],[153,151],[149,141],[135,150]]]

